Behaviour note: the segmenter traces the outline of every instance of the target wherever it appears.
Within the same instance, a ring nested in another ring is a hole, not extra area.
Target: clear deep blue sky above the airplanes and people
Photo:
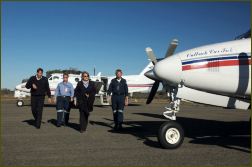
[[[2,2],[1,87],[14,90],[36,69],[138,74],[146,47],[164,57],[233,40],[250,29],[249,2]]]

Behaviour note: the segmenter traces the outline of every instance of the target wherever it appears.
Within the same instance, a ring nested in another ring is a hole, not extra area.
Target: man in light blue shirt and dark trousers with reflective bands
[[[57,110],[57,127],[68,123],[70,102],[73,101],[74,88],[73,85],[68,82],[68,74],[63,74],[63,82],[60,82],[55,90],[55,102]],[[66,119],[66,117],[68,119]]]

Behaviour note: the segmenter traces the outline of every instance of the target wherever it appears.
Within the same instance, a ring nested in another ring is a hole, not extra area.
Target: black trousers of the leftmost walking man
[[[35,126],[40,128],[45,96],[31,96],[31,110],[35,119]]]

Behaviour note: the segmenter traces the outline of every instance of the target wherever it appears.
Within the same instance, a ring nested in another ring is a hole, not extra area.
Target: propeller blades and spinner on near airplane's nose
[[[173,53],[175,52],[175,49],[177,48],[178,46],[178,40],[177,39],[173,39],[172,42],[170,43],[170,46],[165,54],[165,58],[173,55]],[[148,47],[145,49],[146,51],[146,54],[148,56],[148,58],[152,61],[152,64],[155,66],[155,64],[158,62],[157,61],[157,58],[153,52],[153,50]],[[150,94],[147,98],[147,101],[146,101],[146,104],[150,104],[152,102],[152,100],[154,99],[156,93],[157,93],[157,90],[158,90],[158,87],[159,87],[159,83],[162,82],[160,81],[154,74],[153,70],[150,70],[150,71],[147,71],[145,74],[144,74],[146,77],[154,80],[154,84],[151,88],[151,91],[150,91]]]

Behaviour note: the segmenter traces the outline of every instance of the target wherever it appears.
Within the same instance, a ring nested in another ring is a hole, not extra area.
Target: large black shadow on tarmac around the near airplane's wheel
[[[162,115],[150,113],[134,113],[138,115],[165,119]],[[113,122],[111,119],[104,118]],[[166,120],[166,119],[165,119]],[[119,134],[131,134],[150,147],[161,148],[157,141],[159,127],[166,121],[125,121],[121,131],[113,130],[113,123],[92,121],[92,125],[100,125],[111,128],[108,132]],[[189,143],[217,145],[229,149],[250,153],[251,127],[249,121],[223,122],[196,118],[178,117],[185,131],[185,137],[191,138]],[[127,126],[126,126],[127,125]],[[155,137],[156,140],[150,139]]]

